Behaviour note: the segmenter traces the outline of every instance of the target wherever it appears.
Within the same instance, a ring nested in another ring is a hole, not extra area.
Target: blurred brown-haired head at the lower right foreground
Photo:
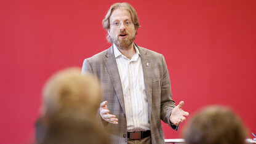
[[[185,128],[186,144],[242,144],[246,130],[229,108],[209,106],[196,114]]]

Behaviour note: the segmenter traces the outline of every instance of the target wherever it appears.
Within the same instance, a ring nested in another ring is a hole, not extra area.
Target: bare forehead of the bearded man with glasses
[[[121,8],[113,10],[110,16],[110,22],[113,22],[114,20],[132,20],[132,17],[130,16],[129,10]]]

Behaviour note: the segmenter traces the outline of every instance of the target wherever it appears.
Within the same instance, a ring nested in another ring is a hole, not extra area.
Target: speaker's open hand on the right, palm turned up
[[[182,124],[182,122],[186,120],[185,116],[189,115],[188,112],[182,110],[183,105],[183,101],[178,103],[178,105],[174,107],[172,113],[170,114],[170,122],[172,122],[172,124],[175,126]]]

